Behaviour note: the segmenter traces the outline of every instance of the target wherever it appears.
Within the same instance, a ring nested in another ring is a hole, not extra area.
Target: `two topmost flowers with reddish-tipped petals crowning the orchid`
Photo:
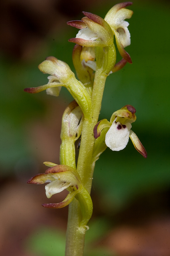
[[[68,25],[80,29],[75,38],[69,42],[83,46],[109,46],[113,44],[114,36],[122,58],[132,63],[129,54],[124,47],[130,45],[129,23],[125,19],[131,18],[133,12],[125,9],[131,2],[120,3],[113,6],[102,19],[90,12],[83,12],[85,15],[81,20],[71,20]]]

